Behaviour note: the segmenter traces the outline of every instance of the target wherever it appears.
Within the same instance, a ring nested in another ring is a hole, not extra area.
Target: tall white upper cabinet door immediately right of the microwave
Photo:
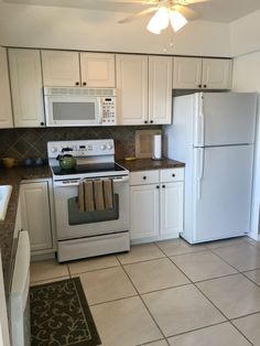
[[[117,55],[118,121],[148,123],[148,56]]]

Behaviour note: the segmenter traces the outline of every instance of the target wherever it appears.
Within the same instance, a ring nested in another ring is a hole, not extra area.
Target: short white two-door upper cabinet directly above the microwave
[[[115,87],[115,54],[42,51],[47,87]]]

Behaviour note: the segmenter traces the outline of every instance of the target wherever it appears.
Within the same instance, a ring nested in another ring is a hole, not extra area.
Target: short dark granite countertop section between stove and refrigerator
[[[163,159],[163,160],[137,159],[134,161],[120,160],[120,161],[117,161],[117,163],[119,163],[120,165],[129,170],[130,172],[177,169],[177,167],[185,166],[185,163],[175,161],[175,160],[170,160],[170,159]]]

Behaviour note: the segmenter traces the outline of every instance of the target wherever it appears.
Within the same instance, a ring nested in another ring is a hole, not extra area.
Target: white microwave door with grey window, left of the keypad
[[[98,97],[45,96],[47,126],[101,125],[101,105]]]

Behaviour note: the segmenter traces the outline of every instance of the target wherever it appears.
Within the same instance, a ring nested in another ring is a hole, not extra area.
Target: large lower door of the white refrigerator
[[[252,156],[252,145],[194,149],[191,242],[249,231]]]

